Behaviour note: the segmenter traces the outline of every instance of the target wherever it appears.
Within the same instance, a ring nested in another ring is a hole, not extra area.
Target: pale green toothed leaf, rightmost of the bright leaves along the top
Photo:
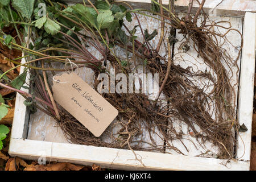
[[[101,30],[102,28],[109,28],[113,21],[114,16],[112,15],[112,11],[106,10],[101,12],[97,16],[98,30]]]

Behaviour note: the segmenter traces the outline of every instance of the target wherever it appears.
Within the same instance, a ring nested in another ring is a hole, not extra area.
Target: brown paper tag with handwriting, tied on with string
[[[118,110],[76,73],[56,75],[53,97],[93,135],[100,137],[117,117]]]

